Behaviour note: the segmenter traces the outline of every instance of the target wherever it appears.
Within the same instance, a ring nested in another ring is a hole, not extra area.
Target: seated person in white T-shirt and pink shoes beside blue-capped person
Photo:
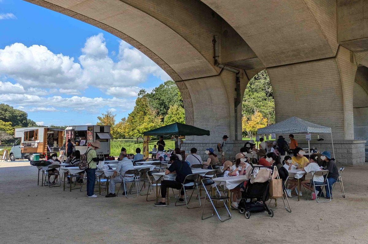
[[[309,173],[311,172],[312,175],[314,174],[315,171],[321,170],[321,168],[319,167],[319,165],[317,164],[318,161],[318,156],[317,155],[311,155],[311,157],[309,158],[309,163],[305,164],[304,166],[304,171]],[[321,187],[318,185],[323,184],[323,182],[325,181],[325,179],[323,178],[323,176],[321,175],[315,175],[313,177],[313,179],[310,180],[303,180],[301,182],[301,184],[305,187],[305,188],[309,188],[310,186],[310,190],[311,192],[311,197],[312,200],[316,200],[316,194],[318,194],[321,191]],[[316,185],[316,192],[314,192],[314,187],[312,187],[312,185]]]

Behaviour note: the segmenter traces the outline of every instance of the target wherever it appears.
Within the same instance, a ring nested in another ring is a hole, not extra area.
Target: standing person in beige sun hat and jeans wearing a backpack
[[[96,150],[100,147],[99,141],[93,141],[91,147],[89,147],[86,151],[86,160],[88,163],[88,168],[85,169],[85,172],[87,173],[87,197],[97,197],[93,191],[95,190],[96,182],[96,162],[100,161],[100,159],[97,157]]]

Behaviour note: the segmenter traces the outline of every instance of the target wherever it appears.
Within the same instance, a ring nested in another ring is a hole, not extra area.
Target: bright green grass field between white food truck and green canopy
[[[158,140],[152,140],[149,141],[149,150],[151,151],[153,148],[153,145],[156,144]],[[167,148],[171,148],[174,149],[174,145],[175,142],[171,141],[171,140],[164,140],[165,141],[165,149]],[[137,140],[133,140],[133,139],[117,139],[117,140],[112,140],[110,142],[110,155],[114,156],[114,157],[118,157],[121,151],[121,148],[125,147],[127,149],[127,153],[133,153],[135,154],[135,148],[139,147],[143,148],[143,141],[142,140],[138,140],[138,144],[137,144]]]

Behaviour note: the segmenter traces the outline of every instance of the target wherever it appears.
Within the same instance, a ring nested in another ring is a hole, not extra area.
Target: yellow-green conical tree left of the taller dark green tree
[[[138,97],[133,111],[128,114],[124,123],[125,136],[142,137],[143,132],[160,127],[161,121],[162,117],[156,116],[156,112],[149,107],[147,97]]]

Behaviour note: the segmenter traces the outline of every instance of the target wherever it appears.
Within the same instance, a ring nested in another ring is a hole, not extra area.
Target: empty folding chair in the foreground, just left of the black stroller
[[[225,222],[226,220],[231,219],[230,211],[229,211],[229,209],[226,206],[226,201],[229,201],[230,200],[230,197],[222,196],[221,193],[220,193],[220,191],[219,191],[219,189],[217,188],[215,182],[212,179],[203,179],[202,180],[202,185],[203,185],[203,188],[206,191],[205,203],[203,204],[203,211],[202,211],[202,220],[211,218],[214,215],[213,212],[212,212],[212,215],[211,216],[208,216],[206,218],[203,218],[203,215],[204,215],[204,212],[205,212],[205,206],[206,206],[206,200],[207,200],[207,198],[210,201],[210,203],[212,204],[213,211],[216,212],[216,215],[220,219],[221,222]],[[217,194],[216,195],[210,195],[209,192],[206,189],[206,186],[211,186],[213,189],[216,189],[216,193]],[[224,220],[222,220],[220,218],[220,215],[217,212],[217,209],[216,209],[215,205],[213,204],[213,201],[216,201],[216,203],[217,203],[217,201],[222,201],[223,202],[224,207],[226,208],[226,211],[229,214],[229,218],[224,219]]]

